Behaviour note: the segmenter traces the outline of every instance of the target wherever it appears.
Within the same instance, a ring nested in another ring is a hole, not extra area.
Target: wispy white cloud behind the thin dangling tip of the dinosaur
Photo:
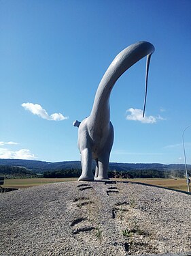
[[[143,124],[154,124],[157,122],[158,119],[160,120],[164,120],[163,117],[160,117],[160,115],[158,115],[158,117],[154,117],[153,115],[150,115],[150,116],[146,116],[143,117],[143,111],[141,109],[128,109],[126,111],[127,112],[130,112],[129,115],[126,115],[126,119],[127,120],[133,120],[133,121],[139,121]]]

